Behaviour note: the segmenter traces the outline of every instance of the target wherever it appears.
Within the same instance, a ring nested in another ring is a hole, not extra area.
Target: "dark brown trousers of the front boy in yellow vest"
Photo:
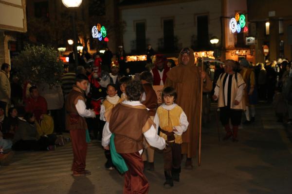
[[[168,146],[163,151],[164,171],[171,171],[172,168],[180,168],[182,162],[182,146],[174,142],[167,142]]]

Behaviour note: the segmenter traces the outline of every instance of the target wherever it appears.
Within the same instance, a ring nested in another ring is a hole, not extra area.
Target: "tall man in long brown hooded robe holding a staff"
[[[186,55],[189,61],[185,59]],[[182,154],[187,154],[186,167],[192,168],[191,158],[197,154],[200,128],[201,73],[199,67],[194,64],[195,56],[192,49],[182,49],[178,61],[179,65],[167,72],[164,86],[172,86],[176,89],[178,93],[176,103],[183,108],[188,118],[189,126],[182,136]],[[202,89],[203,92],[212,90],[212,81],[207,75],[203,80]]]

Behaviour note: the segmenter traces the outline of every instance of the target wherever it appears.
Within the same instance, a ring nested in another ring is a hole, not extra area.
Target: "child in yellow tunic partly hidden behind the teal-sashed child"
[[[105,113],[115,107],[118,103],[120,103],[122,100],[117,95],[117,88],[116,85],[113,83],[109,83],[107,86],[107,98],[102,102],[102,105],[100,107],[100,120],[106,121]],[[110,156],[110,150],[105,150],[105,155],[108,161],[105,163],[105,168],[107,170],[113,170],[114,165],[111,160]]]

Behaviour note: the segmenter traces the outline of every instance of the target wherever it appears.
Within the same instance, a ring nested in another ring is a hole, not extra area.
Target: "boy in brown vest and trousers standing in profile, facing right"
[[[76,85],[66,98],[66,129],[70,130],[73,149],[73,176],[91,175],[85,170],[87,143],[87,124],[84,117],[94,118],[93,110],[86,109],[84,92],[88,87],[88,77],[83,74],[76,76]]]

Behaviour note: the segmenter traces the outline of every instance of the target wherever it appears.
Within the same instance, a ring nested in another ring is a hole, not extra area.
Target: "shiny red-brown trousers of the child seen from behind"
[[[147,194],[149,184],[143,173],[144,164],[139,152],[120,155],[128,166],[123,194]]]

